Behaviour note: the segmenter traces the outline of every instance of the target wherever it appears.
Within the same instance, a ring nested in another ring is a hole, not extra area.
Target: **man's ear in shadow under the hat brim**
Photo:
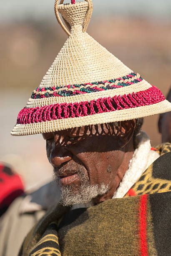
[[[122,121],[121,122],[121,131],[120,134],[118,134],[118,145],[123,148],[128,144],[128,142],[133,137],[133,133],[136,128],[136,120],[128,120],[128,121]]]

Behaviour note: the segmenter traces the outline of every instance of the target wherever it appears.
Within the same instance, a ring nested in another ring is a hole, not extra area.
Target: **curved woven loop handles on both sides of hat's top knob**
[[[68,28],[65,27],[65,25],[63,24],[60,15],[59,15],[59,11],[58,11],[58,3],[60,1],[60,4],[63,4],[64,0],[55,0],[55,6],[54,6],[54,10],[55,10],[55,16],[58,20],[58,23],[60,24],[60,26],[63,28],[63,30],[68,34],[68,36],[71,36],[70,31],[68,30]],[[91,16],[93,13],[93,3],[92,0],[85,0],[88,2],[88,10],[87,13],[85,15],[85,20],[83,22],[83,32],[87,31],[88,25],[90,23],[91,20]],[[65,21],[65,19],[64,19]],[[68,26],[68,24],[66,24]]]

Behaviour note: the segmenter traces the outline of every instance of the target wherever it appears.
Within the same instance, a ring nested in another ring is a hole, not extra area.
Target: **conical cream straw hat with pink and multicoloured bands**
[[[92,11],[91,0],[72,0],[72,4],[55,1],[56,18],[69,37],[18,114],[12,135],[48,133],[171,111],[171,103],[158,88],[86,33]]]

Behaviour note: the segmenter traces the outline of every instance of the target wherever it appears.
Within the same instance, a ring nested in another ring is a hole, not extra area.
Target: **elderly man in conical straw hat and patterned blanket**
[[[58,2],[69,38],[12,135],[43,133],[61,199],[20,255],[170,255],[170,144],[141,126],[171,103],[86,33],[91,0]]]

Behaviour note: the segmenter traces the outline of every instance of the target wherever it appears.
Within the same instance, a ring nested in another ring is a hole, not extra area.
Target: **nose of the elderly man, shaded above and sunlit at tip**
[[[53,167],[60,167],[60,165],[72,159],[72,153],[64,147],[55,147],[50,153],[49,161]]]

